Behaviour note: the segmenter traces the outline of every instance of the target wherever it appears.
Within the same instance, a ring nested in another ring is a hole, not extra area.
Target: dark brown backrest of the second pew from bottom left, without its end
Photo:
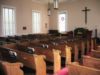
[[[5,44],[2,47],[14,50],[18,55],[17,59],[19,62],[22,62],[23,65],[28,68],[35,69],[33,54],[29,54],[29,53],[18,50],[16,47],[16,44]]]

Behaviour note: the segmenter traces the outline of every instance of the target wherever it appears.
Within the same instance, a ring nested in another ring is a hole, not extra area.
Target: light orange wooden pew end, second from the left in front
[[[44,61],[46,57],[43,55],[34,55],[36,75],[46,75],[46,63]]]

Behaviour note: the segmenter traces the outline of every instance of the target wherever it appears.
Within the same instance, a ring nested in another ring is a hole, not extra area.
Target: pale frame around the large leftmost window
[[[5,33],[4,33],[4,26],[3,26],[3,8],[8,8],[8,9],[13,9],[14,10],[14,19],[15,19],[15,30],[14,30],[14,34],[13,35],[16,35],[16,32],[17,32],[17,24],[16,24],[16,7],[14,7],[14,6],[11,6],[11,5],[1,5],[1,34],[2,34],[2,36],[13,36],[13,35],[6,35]]]

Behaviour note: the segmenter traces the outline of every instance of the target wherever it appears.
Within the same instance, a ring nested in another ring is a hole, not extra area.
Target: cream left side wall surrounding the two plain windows
[[[32,33],[32,10],[40,11],[42,14],[42,23],[41,23],[41,33],[47,33],[48,27],[45,27],[45,24],[49,25],[48,15],[47,15],[47,5],[34,3],[32,0],[0,0],[0,19],[1,19],[1,6],[9,5],[16,7],[16,26],[17,26],[17,35],[22,34],[31,34]],[[0,20],[0,28],[1,27]],[[23,26],[27,27],[27,30],[23,30]],[[1,29],[0,29],[1,35]]]

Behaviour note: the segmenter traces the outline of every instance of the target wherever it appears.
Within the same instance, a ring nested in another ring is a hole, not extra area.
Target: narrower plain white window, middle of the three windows
[[[32,31],[33,33],[41,32],[41,14],[40,12],[32,11]]]

